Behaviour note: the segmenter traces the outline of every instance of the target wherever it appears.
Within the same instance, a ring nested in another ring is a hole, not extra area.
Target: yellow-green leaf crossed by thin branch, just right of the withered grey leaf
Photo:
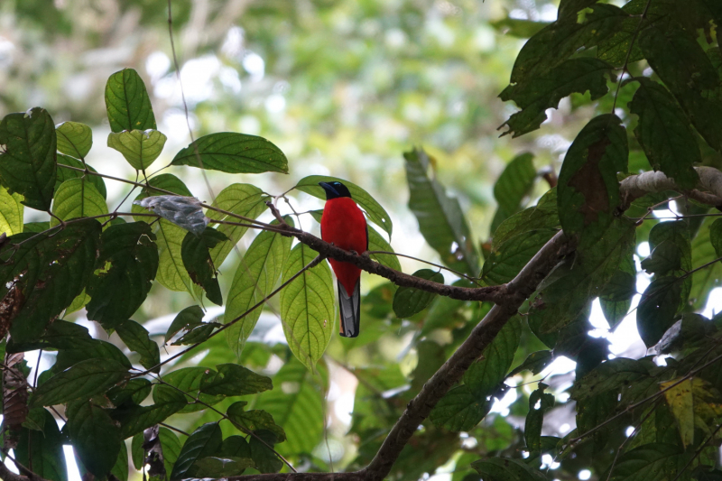
[[[251,184],[231,184],[226,189],[221,190],[216,200],[211,204],[213,207],[221,208],[227,212],[233,212],[238,216],[256,218],[260,216],[267,208],[265,201],[269,199],[263,190]],[[226,220],[229,222],[240,221],[240,219],[215,210],[206,211],[206,215],[212,220]],[[241,224],[245,222],[240,221]],[[241,237],[248,230],[248,227],[218,225],[218,232],[225,234],[228,240],[221,242],[210,249],[210,257],[213,265],[220,267],[226,260],[228,253],[231,252],[234,245],[241,240]]]

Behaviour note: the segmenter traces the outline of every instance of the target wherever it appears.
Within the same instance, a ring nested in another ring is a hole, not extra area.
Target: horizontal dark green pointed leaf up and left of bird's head
[[[288,173],[281,149],[263,137],[235,132],[204,135],[177,153],[171,163],[228,173]]]

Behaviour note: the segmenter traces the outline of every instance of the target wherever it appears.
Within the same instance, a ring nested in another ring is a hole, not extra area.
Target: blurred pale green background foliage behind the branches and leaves
[[[199,171],[165,170],[184,180],[199,199],[210,200],[212,192],[231,182],[252,182],[280,194],[306,175],[337,176],[368,190],[389,211],[397,252],[435,261],[438,254],[425,245],[406,205],[403,152],[419,145],[430,153],[434,175],[458,197],[482,251],[497,207],[495,180],[506,164],[519,153],[532,152],[536,171],[557,171],[595,108],[588,94],[575,94],[549,112],[538,131],[521,139],[499,138],[497,128],[516,111],[498,98],[516,54],[524,38],[555,20],[557,7],[558,2],[544,0],[174,0],[181,93],[165,2],[5,0],[0,3],[0,116],[43,106],[55,123],[91,125],[95,148],[88,163],[132,179],[134,171],[121,155],[106,148],[110,128],[103,103],[108,76],[131,67],[145,80],[158,130],[169,139],[156,165],[169,163],[190,143],[189,126],[195,138],[222,131],[262,135],[289,158],[289,175],[231,178],[208,171],[208,186]],[[125,202],[129,210],[125,185],[107,185],[108,205]],[[548,188],[537,181],[525,204]],[[293,191],[289,198],[298,211],[322,207],[301,192]],[[36,217],[28,216],[26,222],[45,220],[32,215]],[[301,219],[301,227],[318,229],[310,216]],[[242,239],[241,254],[251,240],[251,235]],[[230,255],[221,270],[227,273],[221,276],[224,292],[238,259]],[[401,262],[406,272],[421,267]],[[446,282],[456,280],[445,276]],[[329,455],[335,469],[365,466],[406,402],[488,310],[486,305],[437,299],[428,310],[400,320],[393,318],[391,286],[366,274],[362,285],[362,336],[334,337],[320,375],[299,369],[280,342],[273,302],[241,359],[249,368],[274,374],[276,389],[259,396],[256,404],[285,428],[289,439],[278,449],[294,455],[299,468],[329,469]],[[175,313],[191,302],[187,293],[153,288],[134,319],[160,336]],[[76,316],[87,322],[82,313]],[[95,330],[94,336],[103,335],[102,329]],[[540,348],[525,332],[513,365]],[[236,356],[219,336],[172,368],[227,362],[236,362]],[[51,364],[51,355],[43,356],[42,363]],[[552,392],[560,393],[560,403],[547,413],[544,434],[564,435],[573,428],[574,408],[564,403],[569,394],[563,393],[573,379],[570,370],[573,365],[546,381]],[[531,380],[530,373],[524,376],[529,379],[515,375],[514,382]],[[460,437],[429,423],[404,450],[394,476],[417,479],[442,467],[439,472],[447,474],[438,476],[457,481],[472,476],[469,463],[486,453],[512,455],[522,449],[520,428],[534,388],[512,388],[511,397],[498,393],[506,402]],[[225,407],[218,405],[221,411]],[[217,419],[206,410],[168,422],[190,432]],[[324,419],[331,420],[327,437]],[[567,462],[569,472],[587,467]]]

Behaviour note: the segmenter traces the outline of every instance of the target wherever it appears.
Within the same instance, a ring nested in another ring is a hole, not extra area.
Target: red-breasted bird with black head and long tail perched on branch
[[[366,217],[341,182],[319,182],[326,190],[326,207],[321,217],[321,238],[358,254],[368,250]],[[361,269],[354,264],[329,259],[338,280],[341,336],[356,338],[361,322]]]

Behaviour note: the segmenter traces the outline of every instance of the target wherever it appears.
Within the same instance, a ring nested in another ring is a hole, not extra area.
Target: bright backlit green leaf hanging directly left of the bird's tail
[[[283,266],[282,282],[309,264],[316,251],[298,244],[291,250]],[[310,371],[323,356],[336,323],[333,279],[329,264],[319,265],[301,273],[281,291],[283,334],[291,351]]]

